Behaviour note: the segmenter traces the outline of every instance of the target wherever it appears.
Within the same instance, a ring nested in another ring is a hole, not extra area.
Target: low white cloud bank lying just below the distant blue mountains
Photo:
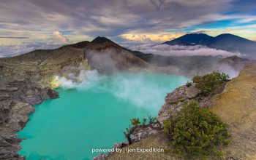
[[[162,56],[223,56],[230,57],[233,55],[241,56],[240,53],[227,52],[219,49],[211,49],[208,47],[196,45],[196,46],[170,46],[167,44],[143,44],[138,46],[129,47],[132,50],[138,50],[143,53],[151,53],[154,55]]]

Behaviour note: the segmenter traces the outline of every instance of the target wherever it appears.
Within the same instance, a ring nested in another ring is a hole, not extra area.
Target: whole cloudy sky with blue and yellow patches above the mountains
[[[0,1],[0,52],[51,48],[96,36],[124,45],[159,43],[185,33],[233,33],[256,41],[256,1]]]

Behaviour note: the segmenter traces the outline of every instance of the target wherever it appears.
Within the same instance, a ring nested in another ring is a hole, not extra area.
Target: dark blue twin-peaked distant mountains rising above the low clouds
[[[209,48],[222,49],[229,52],[240,52],[245,57],[256,57],[256,41],[244,39],[240,36],[225,33],[219,36],[208,36],[205,33],[187,33],[171,41],[165,41],[168,45],[203,45]]]

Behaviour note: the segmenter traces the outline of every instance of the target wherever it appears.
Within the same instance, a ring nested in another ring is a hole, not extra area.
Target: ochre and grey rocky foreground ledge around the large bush
[[[158,120],[165,121],[170,113],[179,111],[182,104],[189,100],[197,100],[200,106],[207,107],[228,124],[231,143],[223,148],[225,159],[256,159],[256,65],[246,66],[238,77],[228,81],[212,95],[202,96],[195,84],[179,87],[165,97]],[[127,148],[164,148],[165,152],[114,153],[108,159],[184,159],[172,152],[163,132],[140,130],[135,137],[140,140]]]

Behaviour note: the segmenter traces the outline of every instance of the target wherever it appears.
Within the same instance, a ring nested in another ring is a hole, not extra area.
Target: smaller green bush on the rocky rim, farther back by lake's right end
[[[229,76],[226,73],[219,73],[218,71],[213,71],[204,76],[195,76],[193,81],[196,83],[195,87],[200,89],[200,91],[208,95],[214,89],[220,87],[221,84],[227,82]]]

